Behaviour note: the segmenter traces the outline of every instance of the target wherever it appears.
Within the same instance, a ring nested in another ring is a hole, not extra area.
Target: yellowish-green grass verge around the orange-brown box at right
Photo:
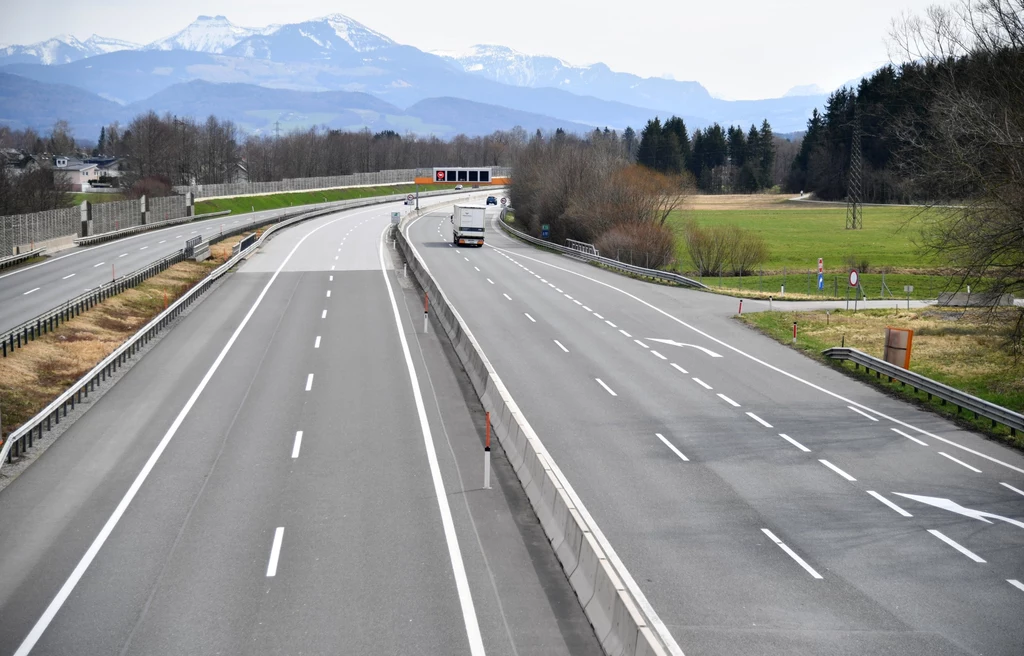
[[[821,351],[845,345],[882,357],[885,329],[908,327],[914,331],[911,370],[963,390],[992,403],[1020,412],[1024,410],[1024,361],[1015,360],[1006,347],[1014,308],[991,315],[987,310],[964,311],[946,308],[914,310],[837,310],[753,312],[740,317],[765,335],[787,345],[793,343],[793,322],[797,322],[795,348],[819,361],[828,362],[847,375],[879,387],[886,393],[909,400],[954,420],[957,424],[985,433],[1018,448],[1024,448],[1024,435],[1011,436],[1004,426],[992,427],[984,418],[975,420],[968,412],[957,413],[951,404],[929,400],[910,387],[888,378],[855,371],[850,362],[838,362]]]

